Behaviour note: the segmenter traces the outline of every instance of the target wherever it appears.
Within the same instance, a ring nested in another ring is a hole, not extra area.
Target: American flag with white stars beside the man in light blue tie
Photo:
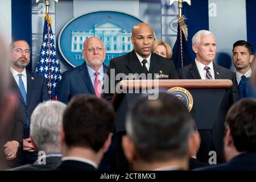
[[[60,71],[60,61],[56,54],[51,22],[51,17],[46,13],[44,16],[43,43],[35,72],[46,77],[49,98],[56,100],[56,89],[61,80],[62,72]]]

